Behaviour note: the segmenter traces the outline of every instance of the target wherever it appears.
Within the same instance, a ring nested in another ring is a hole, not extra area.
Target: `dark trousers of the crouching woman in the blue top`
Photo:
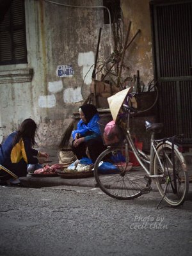
[[[86,148],[88,148],[90,158],[92,162],[95,163],[97,157],[106,150],[106,147],[103,145],[102,138],[97,138],[97,140],[88,140],[79,144],[78,147],[74,147],[74,141],[72,141],[72,152],[76,155],[77,159],[82,159],[83,157],[88,157],[86,155]]]

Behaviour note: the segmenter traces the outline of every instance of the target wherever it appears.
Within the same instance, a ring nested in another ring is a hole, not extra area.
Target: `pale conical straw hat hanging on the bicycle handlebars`
[[[132,86],[108,98],[109,109],[111,111],[111,115],[114,121],[116,121],[116,117],[118,116],[118,112],[120,111],[120,108],[124,103],[125,97],[127,96],[128,93],[131,93],[131,92],[132,92]]]

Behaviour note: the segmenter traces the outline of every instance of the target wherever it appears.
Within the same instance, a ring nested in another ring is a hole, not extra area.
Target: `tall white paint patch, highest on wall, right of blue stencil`
[[[93,72],[93,68],[94,68],[93,64],[95,63],[94,60],[95,60],[95,56],[92,51],[79,52],[78,65],[79,65],[79,67],[83,66],[83,79],[84,79],[84,83],[86,83],[86,84],[92,83],[92,72]]]

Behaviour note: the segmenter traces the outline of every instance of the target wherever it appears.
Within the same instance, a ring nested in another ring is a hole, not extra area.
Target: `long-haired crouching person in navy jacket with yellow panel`
[[[35,150],[36,124],[28,118],[22,122],[18,131],[12,132],[0,147],[0,164],[18,177],[27,175],[28,164],[43,164],[49,157],[45,152]],[[38,159],[38,157],[43,157]],[[7,180],[11,176],[0,170],[0,179]]]

